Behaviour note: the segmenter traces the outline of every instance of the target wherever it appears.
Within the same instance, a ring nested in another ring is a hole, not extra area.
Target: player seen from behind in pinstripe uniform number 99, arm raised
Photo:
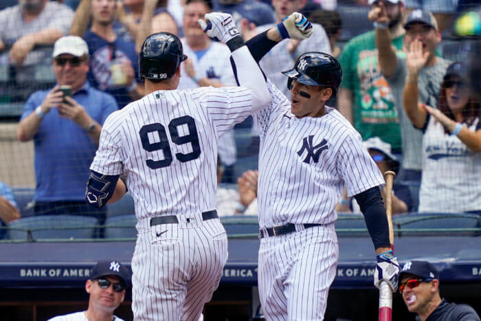
[[[135,320],[201,317],[227,261],[227,237],[214,209],[217,142],[270,100],[232,17],[214,12],[205,19],[199,23],[207,34],[230,47],[243,87],[176,90],[187,58],[181,42],[166,32],[150,35],[139,56],[148,94],[107,118],[91,164],[87,202],[102,207],[126,188],[135,200]],[[284,23],[296,29],[292,19]]]

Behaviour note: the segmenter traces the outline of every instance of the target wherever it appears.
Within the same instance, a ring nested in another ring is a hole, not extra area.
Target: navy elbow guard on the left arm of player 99
[[[93,207],[102,208],[112,197],[118,178],[119,175],[102,175],[91,170],[85,191],[85,201]]]

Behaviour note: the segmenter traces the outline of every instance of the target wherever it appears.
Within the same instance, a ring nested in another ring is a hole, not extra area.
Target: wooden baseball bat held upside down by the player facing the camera
[[[388,218],[389,243],[394,250],[394,229],[392,228],[392,181],[396,173],[388,170],[384,173],[385,179],[385,214]],[[379,285],[379,321],[392,320],[392,290],[387,282],[381,281]]]

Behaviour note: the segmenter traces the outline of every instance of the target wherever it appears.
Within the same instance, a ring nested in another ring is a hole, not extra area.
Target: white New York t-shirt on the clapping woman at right
[[[471,131],[481,129],[477,119]],[[419,212],[471,212],[481,210],[481,154],[471,151],[457,136],[445,133],[429,117],[423,135],[423,177]]]

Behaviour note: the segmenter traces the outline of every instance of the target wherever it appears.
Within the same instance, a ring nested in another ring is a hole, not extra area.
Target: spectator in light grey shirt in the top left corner
[[[42,88],[34,75],[38,64],[52,60],[52,45],[69,31],[74,13],[62,3],[48,0],[19,0],[0,11],[0,65],[14,65],[10,82],[0,87],[7,99],[25,101]],[[13,96],[13,97],[12,97]]]

